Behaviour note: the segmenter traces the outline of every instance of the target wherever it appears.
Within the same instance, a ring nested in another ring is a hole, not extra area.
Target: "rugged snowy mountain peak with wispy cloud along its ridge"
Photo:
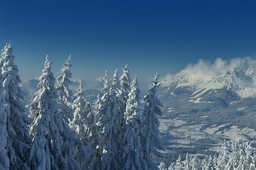
[[[169,79],[162,86],[171,88],[187,87],[198,98],[211,89],[228,89],[241,98],[256,96],[256,61],[250,57],[229,61],[218,58],[213,64],[199,60],[190,64]]]

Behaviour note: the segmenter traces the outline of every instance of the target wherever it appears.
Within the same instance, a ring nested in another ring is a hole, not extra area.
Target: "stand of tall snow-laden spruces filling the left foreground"
[[[151,159],[159,138],[158,75],[141,100],[127,66],[119,78],[104,77],[103,96],[89,103],[80,84],[70,90],[71,57],[53,77],[46,56],[38,91],[23,103],[11,43],[0,59],[0,169],[158,169]]]

